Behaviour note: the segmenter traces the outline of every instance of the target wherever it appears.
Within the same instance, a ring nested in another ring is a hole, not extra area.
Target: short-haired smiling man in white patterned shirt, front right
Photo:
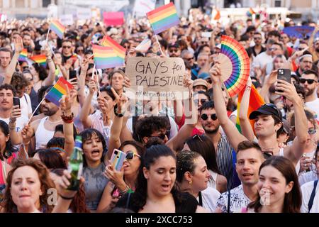
[[[231,189],[230,192],[224,192],[220,195],[216,212],[233,213],[241,211],[257,198],[259,167],[262,162],[264,162],[264,155],[262,155],[258,143],[245,140],[238,144],[236,172],[242,184]],[[228,196],[230,199],[229,209]]]

